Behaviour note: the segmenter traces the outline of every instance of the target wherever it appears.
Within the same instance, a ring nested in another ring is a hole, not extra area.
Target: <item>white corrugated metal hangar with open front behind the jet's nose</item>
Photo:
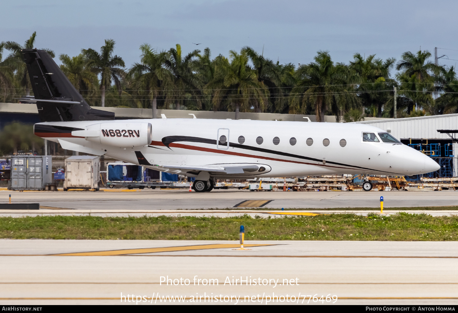
[[[426,177],[457,177],[458,114],[421,116],[403,119],[378,119],[363,122],[391,133],[441,165],[437,172],[428,173]],[[439,132],[438,130],[441,130]],[[455,133],[453,132],[455,131]]]

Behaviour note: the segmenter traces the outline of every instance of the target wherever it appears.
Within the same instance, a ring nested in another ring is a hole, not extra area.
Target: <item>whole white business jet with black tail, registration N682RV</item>
[[[329,174],[415,175],[436,171],[430,157],[365,124],[230,119],[126,119],[85,102],[44,50],[23,49],[38,114],[35,135],[63,149],[105,155],[167,173],[214,179]],[[27,101],[31,101],[27,99]],[[364,190],[372,184],[365,180]]]

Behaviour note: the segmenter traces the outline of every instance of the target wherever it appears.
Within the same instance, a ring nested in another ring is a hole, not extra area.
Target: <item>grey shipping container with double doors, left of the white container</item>
[[[11,157],[11,190],[44,190],[52,183],[52,157]]]

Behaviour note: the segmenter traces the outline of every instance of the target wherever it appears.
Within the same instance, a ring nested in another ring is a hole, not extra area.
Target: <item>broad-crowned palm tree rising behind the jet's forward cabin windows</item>
[[[291,91],[289,113],[304,112],[311,105],[317,122],[324,122],[328,110],[339,121],[349,105],[357,103],[354,93],[356,77],[348,66],[334,65],[327,51],[318,51],[314,59],[315,62],[300,65],[296,71],[298,82]]]

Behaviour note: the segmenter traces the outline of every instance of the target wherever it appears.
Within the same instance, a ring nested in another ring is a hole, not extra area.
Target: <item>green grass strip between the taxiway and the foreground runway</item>
[[[399,213],[392,216],[239,217],[0,217],[0,237],[13,239],[172,239],[456,241],[458,216]]]

